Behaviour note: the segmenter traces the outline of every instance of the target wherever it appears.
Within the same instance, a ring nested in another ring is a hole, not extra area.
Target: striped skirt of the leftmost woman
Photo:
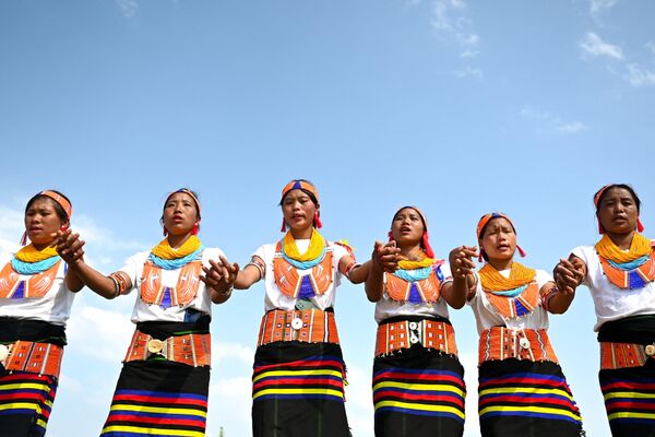
[[[56,391],[57,379],[51,376],[23,371],[0,376],[0,435],[44,436]]]

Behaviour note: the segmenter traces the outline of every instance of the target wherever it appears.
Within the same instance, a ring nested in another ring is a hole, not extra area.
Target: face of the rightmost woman
[[[596,214],[607,233],[629,234],[636,227],[639,210],[630,191],[615,187],[603,196]]]

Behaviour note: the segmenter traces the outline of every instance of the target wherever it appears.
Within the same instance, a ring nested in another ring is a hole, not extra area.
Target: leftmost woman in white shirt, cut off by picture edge
[[[80,281],[67,273],[55,250],[57,232],[68,228],[72,205],[55,190],[25,206],[31,244],[0,264],[0,434],[43,436],[55,401],[66,322]]]

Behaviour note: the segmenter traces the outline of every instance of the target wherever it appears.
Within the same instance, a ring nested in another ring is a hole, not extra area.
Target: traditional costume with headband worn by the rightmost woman
[[[596,209],[609,187],[596,194]],[[655,436],[655,252],[642,231],[638,221],[628,251],[607,235],[572,251],[587,268],[582,284],[596,309],[598,379],[615,437]]]

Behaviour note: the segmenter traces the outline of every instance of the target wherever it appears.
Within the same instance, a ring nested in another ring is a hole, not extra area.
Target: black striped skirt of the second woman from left
[[[102,435],[204,437],[209,386],[209,367],[156,359],[126,363]]]

